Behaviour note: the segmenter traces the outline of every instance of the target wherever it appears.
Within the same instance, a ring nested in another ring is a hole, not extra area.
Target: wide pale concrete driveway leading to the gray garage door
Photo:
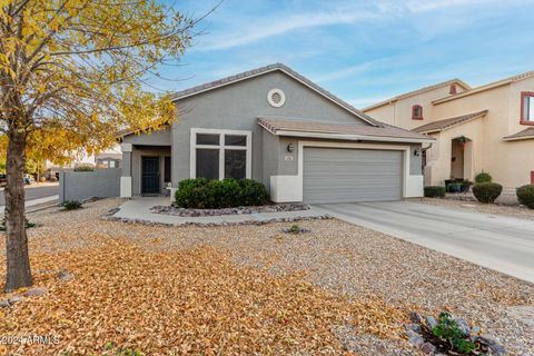
[[[534,283],[534,220],[408,201],[317,205],[314,208]]]

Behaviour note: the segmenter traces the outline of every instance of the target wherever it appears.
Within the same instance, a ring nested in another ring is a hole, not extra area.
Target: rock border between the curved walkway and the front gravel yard
[[[181,224],[169,224],[169,222],[155,222],[150,220],[142,220],[142,219],[129,219],[129,218],[119,218],[112,216],[115,212],[107,212],[101,216],[102,220],[107,221],[118,221],[118,222],[127,222],[127,224],[140,224],[147,226],[199,226],[199,227],[217,227],[217,226],[241,226],[241,225],[266,225],[271,222],[293,222],[293,221],[301,221],[301,220],[326,220],[333,219],[334,217],[329,215],[319,215],[319,216],[303,216],[303,217],[294,217],[294,218],[273,218],[273,219],[265,219],[265,220],[244,220],[244,221],[221,221],[221,222],[181,222]]]

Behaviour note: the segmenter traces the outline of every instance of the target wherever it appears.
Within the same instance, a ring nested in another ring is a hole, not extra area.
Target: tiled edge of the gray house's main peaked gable
[[[333,101],[334,103],[336,103],[339,107],[342,107],[343,109],[352,112],[353,115],[355,115],[356,117],[358,117],[359,119],[366,121],[367,123],[369,123],[372,126],[382,126],[383,125],[382,122],[379,122],[379,121],[373,119],[372,117],[369,117],[368,115],[359,111],[358,109],[356,109],[355,107],[353,107],[348,102],[339,99],[338,97],[336,97],[332,92],[327,91],[326,89],[323,89],[322,87],[319,87],[318,85],[316,85],[315,82],[309,80],[308,78],[304,77],[303,75],[297,73],[296,71],[294,71],[293,69],[290,69],[289,67],[283,65],[283,63],[274,63],[274,65],[260,67],[260,68],[257,68],[257,69],[247,70],[247,71],[244,71],[241,73],[237,73],[237,75],[229,76],[229,77],[218,79],[218,80],[214,80],[214,81],[200,85],[200,86],[196,86],[196,87],[192,87],[192,88],[189,88],[189,89],[185,89],[185,90],[178,91],[175,95],[172,95],[171,99],[172,99],[172,101],[177,101],[177,100],[180,100],[180,99],[184,99],[184,98],[188,98],[188,97],[191,97],[191,96],[195,96],[195,95],[199,95],[201,92],[206,92],[206,91],[214,90],[214,89],[217,89],[217,88],[220,88],[220,87],[233,85],[233,83],[241,81],[241,80],[247,80],[247,79],[250,79],[250,78],[254,78],[254,77],[263,76],[263,75],[266,75],[266,73],[269,73],[269,72],[273,72],[273,71],[281,71],[283,73],[296,79],[297,81],[301,82],[303,85],[305,85],[309,89],[318,92],[319,95],[322,95],[326,99]]]

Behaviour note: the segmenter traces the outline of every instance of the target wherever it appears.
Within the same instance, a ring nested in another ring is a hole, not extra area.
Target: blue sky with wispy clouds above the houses
[[[170,0],[166,0],[170,1]],[[217,0],[177,1],[200,17]],[[152,80],[180,90],[283,62],[363,108],[459,78],[483,85],[534,70],[534,0],[225,0],[179,67]]]

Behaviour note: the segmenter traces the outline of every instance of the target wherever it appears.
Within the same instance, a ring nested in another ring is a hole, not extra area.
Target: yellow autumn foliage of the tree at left
[[[0,156],[10,132],[28,132],[28,157],[61,162],[167,126],[172,102],[146,80],[194,24],[156,0],[0,0]]]

